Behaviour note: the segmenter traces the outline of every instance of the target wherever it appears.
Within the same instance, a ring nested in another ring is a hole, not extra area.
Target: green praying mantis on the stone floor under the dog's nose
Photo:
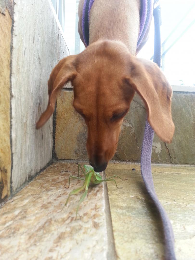
[[[70,186],[70,178],[79,179],[79,180],[84,180],[83,186],[81,186],[81,187],[79,187],[79,188],[77,188],[77,189],[75,189],[75,190],[73,190],[73,191],[71,191],[71,192],[69,193],[69,196],[68,196],[68,198],[67,198],[67,200],[66,200],[66,203],[64,204],[64,206],[67,205],[67,203],[68,203],[69,198],[70,198],[71,195],[77,194],[77,193],[79,193],[80,191],[85,190],[84,193],[82,194],[80,200],[79,200],[78,205],[77,205],[76,217],[77,217],[77,213],[78,213],[78,210],[79,210],[79,206],[80,206],[81,202],[83,202],[84,198],[85,198],[86,195],[87,195],[87,191],[88,191],[88,187],[89,187],[89,184],[90,184],[90,183],[93,184],[93,185],[97,185],[97,184],[102,183],[103,181],[114,181],[116,187],[117,187],[118,189],[122,189],[122,188],[119,188],[119,187],[117,186],[116,181],[113,179],[113,178],[117,177],[117,178],[123,180],[123,179],[122,179],[121,177],[119,177],[118,175],[114,175],[114,176],[109,177],[109,178],[107,178],[107,179],[105,179],[105,180],[102,180],[102,176],[101,176],[98,172],[95,172],[92,166],[90,166],[90,165],[84,165],[83,167],[84,167],[84,170],[82,169],[81,165],[79,164],[79,165],[78,165],[78,172],[79,172],[79,168],[80,168],[81,171],[82,171],[82,173],[84,174],[85,178],[80,178],[80,177],[79,177],[79,173],[78,173],[78,177],[70,176],[70,177],[69,177],[68,187],[65,187],[66,189],[69,188],[69,186]],[[127,179],[125,179],[125,180],[127,180]],[[63,208],[64,208],[64,206],[63,206]],[[62,210],[63,210],[63,208],[62,208]]]

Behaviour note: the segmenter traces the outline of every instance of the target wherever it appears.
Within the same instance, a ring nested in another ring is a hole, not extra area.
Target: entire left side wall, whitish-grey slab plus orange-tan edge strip
[[[2,202],[52,158],[53,118],[40,130],[35,123],[47,107],[51,70],[69,51],[50,0],[1,0],[0,12]]]

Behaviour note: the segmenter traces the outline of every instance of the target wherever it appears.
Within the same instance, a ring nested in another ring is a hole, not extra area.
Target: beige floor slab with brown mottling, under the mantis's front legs
[[[56,163],[36,177],[0,209],[0,259],[115,259],[108,258],[103,184],[89,187],[75,220],[82,195],[68,194],[82,186],[78,165]],[[62,210],[62,211],[61,211]]]

